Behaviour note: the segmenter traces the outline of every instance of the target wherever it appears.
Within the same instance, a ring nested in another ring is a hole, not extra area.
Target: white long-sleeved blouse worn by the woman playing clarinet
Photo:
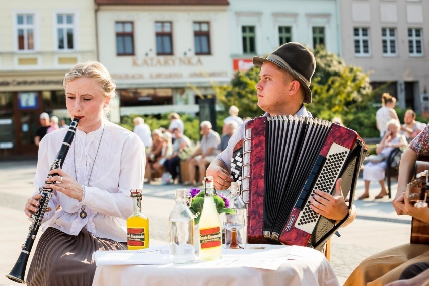
[[[44,184],[67,130],[58,129],[40,141],[33,182],[37,188]],[[52,211],[45,213],[42,230],[54,227],[64,233],[78,235],[85,227],[96,237],[126,242],[126,229],[120,220],[127,219],[133,212],[130,190],[143,186],[145,148],[133,132],[107,120],[103,136],[102,132],[103,126],[88,134],[76,130],[62,169],[85,186],[84,198],[79,202],[53,191],[48,204]],[[55,212],[57,206],[61,208]],[[85,219],[79,217],[81,207],[87,213]]]

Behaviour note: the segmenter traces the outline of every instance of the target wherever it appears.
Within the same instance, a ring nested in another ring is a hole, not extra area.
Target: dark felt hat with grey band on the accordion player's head
[[[316,59],[308,48],[297,42],[286,43],[267,58],[253,57],[253,64],[261,67],[267,60],[291,73],[304,87],[304,103],[311,103],[310,83],[316,69]]]

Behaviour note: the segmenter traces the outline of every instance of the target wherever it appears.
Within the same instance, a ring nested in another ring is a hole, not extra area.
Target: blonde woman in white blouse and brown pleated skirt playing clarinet
[[[140,138],[106,116],[116,89],[107,69],[95,61],[77,64],[65,74],[64,89],[70,118],[80,119],[61,169],[49,167],[67,129],[40,142],[34,185],[52,189],[52,197],[27,274],[29,286],[91,285],[93,252],[127,249],[120,221],[133,210],[130,189],[143,184]],[[37,212],[39,198],[36,192],[28,199],[28,217]]]

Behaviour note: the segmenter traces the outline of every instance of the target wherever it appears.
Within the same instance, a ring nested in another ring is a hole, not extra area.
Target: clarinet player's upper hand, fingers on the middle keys
[[[83,186],[79,184],[74,178],[70,177],[62,169],[53,169],[48,175],[58,174],[46,179],[48,184],[44,187],[53,189],[57,192],[63,193],[70,198],[81,201],[83,199]]]

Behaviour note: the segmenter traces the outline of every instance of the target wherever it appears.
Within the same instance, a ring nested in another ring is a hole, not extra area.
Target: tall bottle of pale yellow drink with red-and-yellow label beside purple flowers
[[[199,258],[216,260],[222,257],[221,222],[216,210],[213,177],[205,177],[205,197],[199,220]]]

